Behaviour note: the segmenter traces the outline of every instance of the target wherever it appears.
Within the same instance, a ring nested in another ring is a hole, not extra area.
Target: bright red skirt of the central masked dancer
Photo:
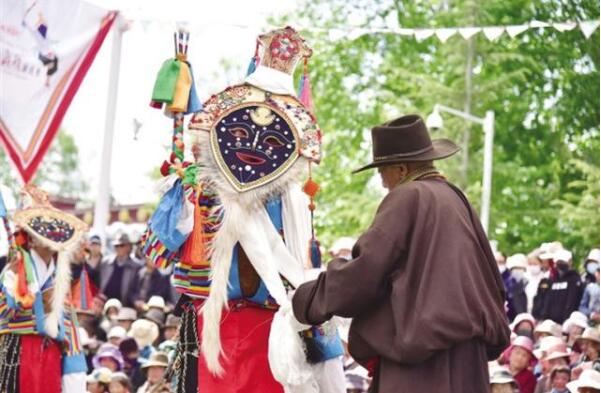
[[[198,361],[199,393],[283,393],[284,388],[271,374],[267,347],[274,310],[247,302],[230,302],[221,317],[221,346],[227,359],[221,358],[222,377],[207,369],[204,357]],[[198,334],[202,339],[202,314],[198,316]]]

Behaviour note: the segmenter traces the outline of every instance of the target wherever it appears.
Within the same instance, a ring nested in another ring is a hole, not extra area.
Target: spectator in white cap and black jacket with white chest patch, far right
[[[549,283],[541,319],[563,323],[573,311],[578,310],[584,287],[578,272],[571,268],[571,252],[560,250],[553,253],[553,262],[557,277]]]

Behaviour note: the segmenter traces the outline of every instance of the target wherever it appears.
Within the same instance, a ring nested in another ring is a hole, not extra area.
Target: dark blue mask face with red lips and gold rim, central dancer
[[[261,103],[234,107],[217,121],[211,148],[237,191],[269,183],[298,158],[298,133],[286,115]]]

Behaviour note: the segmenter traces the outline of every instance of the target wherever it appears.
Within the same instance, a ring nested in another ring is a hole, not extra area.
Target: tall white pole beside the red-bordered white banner
[[[117,92],[119,87],[119,67],[121,65],[121,41],[123,38],[123,23],[117,17],[113,27],[113,48],[111,52],[111,69],[109,74],[109,90],[106,104],[104,123],[104,140],[102,143],[102,159],[98,180],[98,196],[94,206],[94,225],[92,232],[103,240],[106,237],[106,225],[109,220],[109,203],[111,196],[111,160],[113,155],[113,134],[117,113]]]

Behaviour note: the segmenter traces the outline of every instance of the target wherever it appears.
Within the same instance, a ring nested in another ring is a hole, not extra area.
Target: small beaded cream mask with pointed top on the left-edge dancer
[[[22,209],[13,215],[13,222],[51,250],[60,252],[74,247],[88,230],[79,218],[52,206],[48,194],[36,186],[26,185],[21,194]]]

